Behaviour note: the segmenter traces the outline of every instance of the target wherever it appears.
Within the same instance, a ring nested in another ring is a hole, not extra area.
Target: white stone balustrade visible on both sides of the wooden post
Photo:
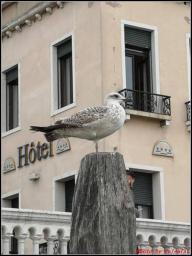
[[[70,226],[70,212],[2,208],[3,254],[24,254],[27,239],[33,243],[29,254],[68,254]],[[168,254],[166,250],[183,249],[183,254],[185,250],[190,253],[188,223],[137,218],[136,230],[140,250],[155,254],[158,249]],[[10,251],[13,231],[18,245],[14,253]],[[47,242],[40,244],[42,239]]]

